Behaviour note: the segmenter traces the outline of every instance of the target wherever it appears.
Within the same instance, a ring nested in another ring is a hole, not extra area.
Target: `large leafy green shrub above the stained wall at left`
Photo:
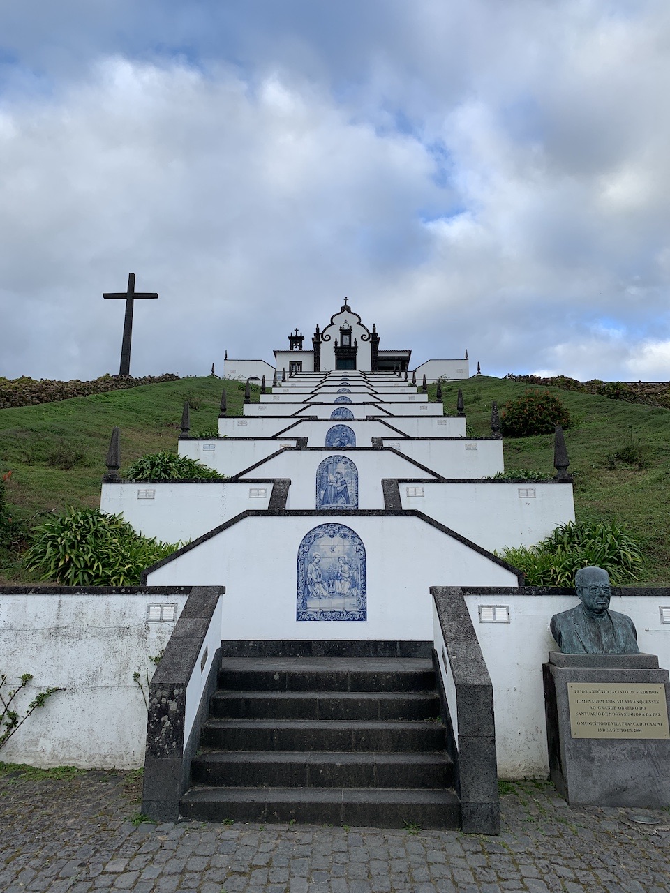
[[[71,508],[33,530],[23,561],[62,586],[137,586],[146,567],[179,547],[139,536],[118,515]]]

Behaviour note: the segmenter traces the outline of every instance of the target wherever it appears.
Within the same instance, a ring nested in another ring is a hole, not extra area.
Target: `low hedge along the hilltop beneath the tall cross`
[[[139,385],[157,384],[161,381],[176,381],[179,375],[166,372],[164,375],[146,375],[141,379],[130,376],[103,375],[92,381],[56,381],[51,379],[4,379],[0,377],[0,409],[17,406],[35,406],[40,403],[53,403],[55,400],[68,400],[72,396],[105,394],[107,391],[137,388]]]

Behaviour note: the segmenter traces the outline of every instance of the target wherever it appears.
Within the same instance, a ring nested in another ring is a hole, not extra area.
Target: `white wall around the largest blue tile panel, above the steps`
[[[309,530],[330,522],[345,524],[363,540],[365,622],[296,620],[297,549]],[[402,543],[411,546],[399,548]],[[481,586],[516,585],[515,574],[411,515],[252,516],[148,575],[154,586],[163,580],[225,585],[222,638],[357,641],[431,640],[429,589],[445,579],[451,585],[465,580]]]

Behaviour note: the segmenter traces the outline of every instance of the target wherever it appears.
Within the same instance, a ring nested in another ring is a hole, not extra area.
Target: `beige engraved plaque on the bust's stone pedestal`
[[[568,682],[573,738],[670,739],[662,682]]]

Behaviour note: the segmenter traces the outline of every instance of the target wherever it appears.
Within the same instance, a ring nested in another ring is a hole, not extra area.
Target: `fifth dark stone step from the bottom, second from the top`
[[[226,691],[434,691],[432,662],[418,657],[224,657]]]

